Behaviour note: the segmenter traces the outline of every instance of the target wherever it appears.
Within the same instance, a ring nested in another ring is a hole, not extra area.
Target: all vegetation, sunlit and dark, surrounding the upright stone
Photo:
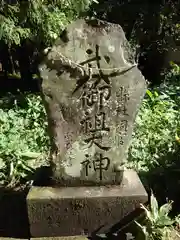
[[[2,185],[29,183],[35,175],[28,161],[36,159],[38,168],[48,158],[46,113],[39,95],[42,51],[72,20],[98,17],[122,26],[138,67],[150,82],[136,119],[129,166],[138,171],[146,189],[153,189],[161,204],[167,198],[175,201],[172,214],[177,215],[180,59],[169,64],[173,59],[168,56],[180,45],[179,10],[177,0],[0,1]]]

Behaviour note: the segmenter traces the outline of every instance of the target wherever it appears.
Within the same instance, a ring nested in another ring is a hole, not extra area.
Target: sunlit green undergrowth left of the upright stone
[[[49,138],[40,96],[1,99],[0,183],[14,186],[45,164]]]

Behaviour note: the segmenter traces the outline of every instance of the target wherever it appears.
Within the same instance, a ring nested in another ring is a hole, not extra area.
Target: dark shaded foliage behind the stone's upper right
[[[90,14],[118,23],[126,33],[136,60],[148,81],[160,82],[159,74],[167,67],[167,51],[180,43],[180,4],[178,0],[100,0]]]

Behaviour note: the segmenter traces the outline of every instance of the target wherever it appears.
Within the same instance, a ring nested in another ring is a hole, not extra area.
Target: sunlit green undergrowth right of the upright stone
[[[160,87],[147,90],[136,118],[129,151],[129,165],[137,171],[149,171],[161,165],[168,166],[168,162],[171,161],[168,156],[179,148],[178,71],[173,69]]]

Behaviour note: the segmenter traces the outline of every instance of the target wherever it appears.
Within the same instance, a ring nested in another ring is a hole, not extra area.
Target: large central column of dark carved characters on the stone
[[[88,49],[86,53],[92,55],[93,51]],[[111,82],[108,75],[102,72],[100,60],[99,46],[96,45],[96,56],[87,60],[86,63],[89,67],[89,73],[91,73],[92,69],[90,69],[90,62],[96,61],[98,74],[89,74],[89,79],[83,82],[83,86],[81,84],[81,107],[84,114],[80,124],[84,133],[87,135],[84,142],[88,144],[88,147],[92,145],[97,147],[93,159],[90,160],[89,155],[86,155],[86,160],[81,162],[81,164],[85,168],[86,176],[89,175],[89,169],[93,169],[95,172],[99,172],[99,179],[101,181],[103,178],[103,171],[107,171],[110,166],[110,159],[103,154],[103,151],[109,151],[111,147],[103,143],[103,136],[104,133],[110,131],[106,121],[107,116],[105,109],[108,107],[108,101],[111,97]],[[81,64],[83,65],[84,63]]]

